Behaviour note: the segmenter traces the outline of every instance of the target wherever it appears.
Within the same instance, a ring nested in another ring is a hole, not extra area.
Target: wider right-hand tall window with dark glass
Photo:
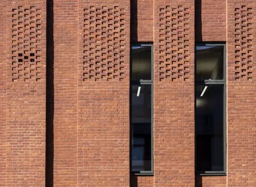
[[[198,174],[224,174],[225,45],[196,44],[195,47],[195,169]]]

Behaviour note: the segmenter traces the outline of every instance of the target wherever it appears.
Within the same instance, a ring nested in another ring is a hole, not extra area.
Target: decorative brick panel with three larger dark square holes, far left
[[[18,6],[12,9],[12,81],[39,81],[41,73],[41,9]]]

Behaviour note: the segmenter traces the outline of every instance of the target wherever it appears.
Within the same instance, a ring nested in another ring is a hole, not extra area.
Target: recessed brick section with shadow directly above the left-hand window
[[[154,40],[154,0],[131,0],[132,42]]]

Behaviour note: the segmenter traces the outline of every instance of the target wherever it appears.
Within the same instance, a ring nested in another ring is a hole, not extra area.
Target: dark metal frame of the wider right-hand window
[[[194,130],[195,132],[195,174],[196,175],[213,175],[213,176],[218,176],[218,175],[226,175],[226,44],[224,42],[212,42],[212,43],[195,43],[195,49],[194,49],[194,66],[195,66],[195,72],[196,72],[196,47],[197,46],[223,46],[224,47],[224,55],[223,55],[223,79],[222,80],[204,80],[204,81],[196,81],[194,80],[194,90],[196,90],[197,85],[223,85],[223,147],[224,147],[224,170],[223,171],[197,171],[196,170],[196,129]],[[194,100],[196,101],[196,94],[194,94]],[[196,102],[194,102],[194,112],[196,114]],[[195,115],[196,116],[196,115]],[[195,120],[195,119],[194,119]]]

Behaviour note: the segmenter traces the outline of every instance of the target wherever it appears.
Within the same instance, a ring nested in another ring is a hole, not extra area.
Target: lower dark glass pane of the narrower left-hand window
[[[151,170],[151,85],[132,86],[132,171]]]

